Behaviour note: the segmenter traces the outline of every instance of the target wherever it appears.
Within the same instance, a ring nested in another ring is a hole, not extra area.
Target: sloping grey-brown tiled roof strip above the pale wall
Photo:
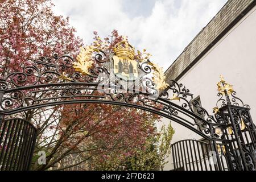
[[[255,6],[256,0],[229,0],[220,12],[203,28],[166,71],[166,80],[179,80],[189,68],[225,35],[225,31],[241,19],[245,11]],[[227,30],[228,29],[228,30]]]

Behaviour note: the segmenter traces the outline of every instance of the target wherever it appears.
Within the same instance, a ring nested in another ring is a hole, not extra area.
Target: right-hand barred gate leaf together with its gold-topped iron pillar
[[[226,82],[219,84],[225,87]],[[227,86],[226,86],[227,88]],[[231,89],[231,88],[230,88]],[[236,97],[233,89],[218,93],[221,96],[214,108],[217,127],[207,142],[181,140],[172,144],[175,170],[187,171],[255,171],[256,129],[248,105]],[[230,100],[230,96],[232,97]],[[218,109],[218,105],[221,108]],[[240,106],[241,105],[241,106]],[[217,138],[224,139],[222,142]]]

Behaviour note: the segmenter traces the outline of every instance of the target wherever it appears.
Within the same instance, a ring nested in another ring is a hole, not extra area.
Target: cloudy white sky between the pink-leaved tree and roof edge
[[[57,15],[70,23],[85,44],[93,31],[101,38],[113,29],[128,36],[136,49],[147,49],[152,61],[170,67],[183,49],[227,0],[52,0]]]

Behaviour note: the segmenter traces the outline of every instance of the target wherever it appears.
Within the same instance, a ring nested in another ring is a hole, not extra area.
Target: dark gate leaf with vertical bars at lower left
[[[35,127],[24,119],[0,122],[1,171],[29,170],[36,142]]]

